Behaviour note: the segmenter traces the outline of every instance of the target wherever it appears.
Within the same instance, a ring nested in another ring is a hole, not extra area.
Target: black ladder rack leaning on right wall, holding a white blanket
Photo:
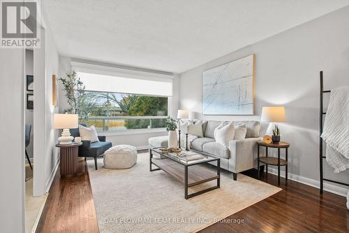
[[[332,183],[338,183],[339,185],[346,185],[349,186],[349,183],[343,183],[339,181],[333,181],[327,178],[324,178],[323,174],[323,167],[322,167],[322,160],[326,158],[326,156],[323,156],[322,154],[322,129],[323,129],[323,116],[326,114],[324,112],[324,93],[329,93],[330,90],[324,90],[324,78],[323,78],[323,71],[320,71],[320,194],[323,193],[324,190],[324,181],[329,181]]]

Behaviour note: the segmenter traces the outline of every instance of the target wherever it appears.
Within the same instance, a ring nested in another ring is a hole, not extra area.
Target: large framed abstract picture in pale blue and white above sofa
[[[203,115],[253,115],[255,55],[202,72]]]

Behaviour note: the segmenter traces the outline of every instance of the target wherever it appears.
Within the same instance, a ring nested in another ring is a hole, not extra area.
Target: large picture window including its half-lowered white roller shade
[[[87,125],[98,131],[165,127],[173,76],[72,62],[87,93]],[[129,94],[127,94],[129,93]]]

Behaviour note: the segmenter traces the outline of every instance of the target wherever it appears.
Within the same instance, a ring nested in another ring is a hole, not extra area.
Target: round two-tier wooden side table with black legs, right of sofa
[[[257,142],[258,149],[258,160],[257,160],[257,169],[258,169],[258,178],[260,178],[260,162],[265,164],[265,176],[268,175],[268,165],[277,166],[278,167],[278,185],[280,185],[280,166],[285,166],[285,181],[287,182],[287,174],[288,174],[288,148],[290,147],[290,143],[285,141],[280,141],[279,143],[265,143],[264,141]],[[260,146],[265,147],[265,157],[260,157]],[[268,148],[277,148],[278,149],[278,157],[268,157]],[[280,158],[280,150],[285,149],[285,160]]]

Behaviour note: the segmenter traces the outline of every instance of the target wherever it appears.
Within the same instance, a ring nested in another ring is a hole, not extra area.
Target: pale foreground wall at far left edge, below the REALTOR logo
[[[0,229],[24,232],[24,50],[0,49]]]

